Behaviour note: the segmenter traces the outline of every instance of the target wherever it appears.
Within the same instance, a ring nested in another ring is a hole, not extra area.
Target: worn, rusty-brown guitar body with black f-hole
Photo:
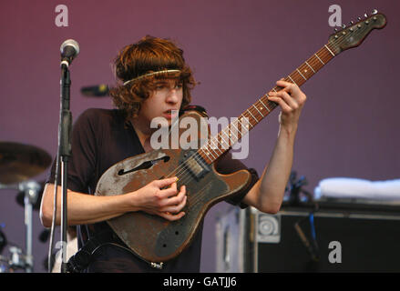
[[[197,120],[201,117],[194,111],[183,116]],[[179,135],[183,131],[179,130]],[[111,166],[100,177],[95,195],[115,196],[136,191],[154,180],[167,177],[192,154],[191,149],[159,149],[127,158]],[[156,162],[149,166],[151,161]],[[246,170],[221,175],[214,165],[210,165],[208,172],[200,178],[189,177],[188,171],[188,175],[178,181],[179,187],[186,186],[188,196],[182,210],[186,215],[178,221],[170,222],[139,211],[110,219],[108,225],[133,252],[149,262],[165,262],[178,256],[190,245],[210,207],[251,182],[251,174]]]

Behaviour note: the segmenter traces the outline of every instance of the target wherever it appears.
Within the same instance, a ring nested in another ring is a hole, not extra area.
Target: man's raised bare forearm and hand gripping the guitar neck
[[[276,84],[283,89],[278,93],[271,92],[269,99],[281,106],[278,139],[261,179],[243,199],[243,203],[272,214],[277,213],[282,205],[284,189],[292,169],[294,138],[306,100],[306,95],[297,85],[282,80]]]

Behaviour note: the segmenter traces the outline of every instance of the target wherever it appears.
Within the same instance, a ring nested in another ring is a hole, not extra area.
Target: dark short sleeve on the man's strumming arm
[[[96,170],[97,128],[94,109],[87,109],[77,118],[72,127],[71,153],[68,160],[67,188],[81,193],[89,193],[88,186]],[[61,163],[60,163],[61,168]],[[56,159],[46,182],[55,183]],[[61,181],[60,173],[58,180]],[[60,182],[58,183],[60,185]]]

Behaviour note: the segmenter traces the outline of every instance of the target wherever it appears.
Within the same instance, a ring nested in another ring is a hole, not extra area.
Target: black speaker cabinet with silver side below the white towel
[[[399,272],[400,211],[330,204],[217,220],[217,272]]]

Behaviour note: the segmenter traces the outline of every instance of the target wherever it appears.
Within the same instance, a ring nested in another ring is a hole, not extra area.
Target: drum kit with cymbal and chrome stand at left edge
[[[0,273],[22,269],[33,272],[32,212],[40,208],[44,183],[32,180],[50,166],[52,158],[43,149],[19,143],[0,142],[0,189],[17,191],[16,202],[25,207],[26,249],[9,246],[9,256],[2,256],[7,239],[0,226]]]

